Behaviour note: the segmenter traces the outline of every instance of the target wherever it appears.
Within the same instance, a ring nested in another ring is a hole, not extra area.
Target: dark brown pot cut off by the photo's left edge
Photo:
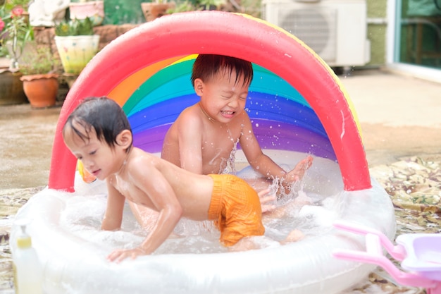
[[[21,76],[20,72],[12,73],[7,69],[0,69],[0,105],[27,103]]]

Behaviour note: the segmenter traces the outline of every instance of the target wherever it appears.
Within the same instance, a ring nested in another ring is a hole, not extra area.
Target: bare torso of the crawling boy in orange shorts
[[[136,147],[124,165],[121,172],[108,181],[128,200],[159,211],[157,202],[173,203],[170,198],[164,198],[175,195],[182,207],[182,216],[196,221],[208,219],[213,190],[209,176],[190,173]]]

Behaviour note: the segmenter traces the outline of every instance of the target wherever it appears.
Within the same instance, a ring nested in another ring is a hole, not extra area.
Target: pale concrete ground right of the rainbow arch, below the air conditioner
[[[369,166],[441,157],[441,84],[385,71],[340,78],[359,116]]]

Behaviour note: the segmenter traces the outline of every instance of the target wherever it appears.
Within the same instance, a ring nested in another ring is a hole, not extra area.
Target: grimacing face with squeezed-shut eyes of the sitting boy
[[[243,76],[236,81],[235,73],[230,75],[229,71],[221,71],[212,80],[201,82],[201,94],[197,94],[209,116],[221,123],[228,123],[244,110],[248,88],[249,84],[244,84]]]

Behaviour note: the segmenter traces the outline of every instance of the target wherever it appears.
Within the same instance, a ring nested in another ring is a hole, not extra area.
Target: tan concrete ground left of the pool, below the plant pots
[[[60,109],[0,106],[0,190],[47,185]]]

